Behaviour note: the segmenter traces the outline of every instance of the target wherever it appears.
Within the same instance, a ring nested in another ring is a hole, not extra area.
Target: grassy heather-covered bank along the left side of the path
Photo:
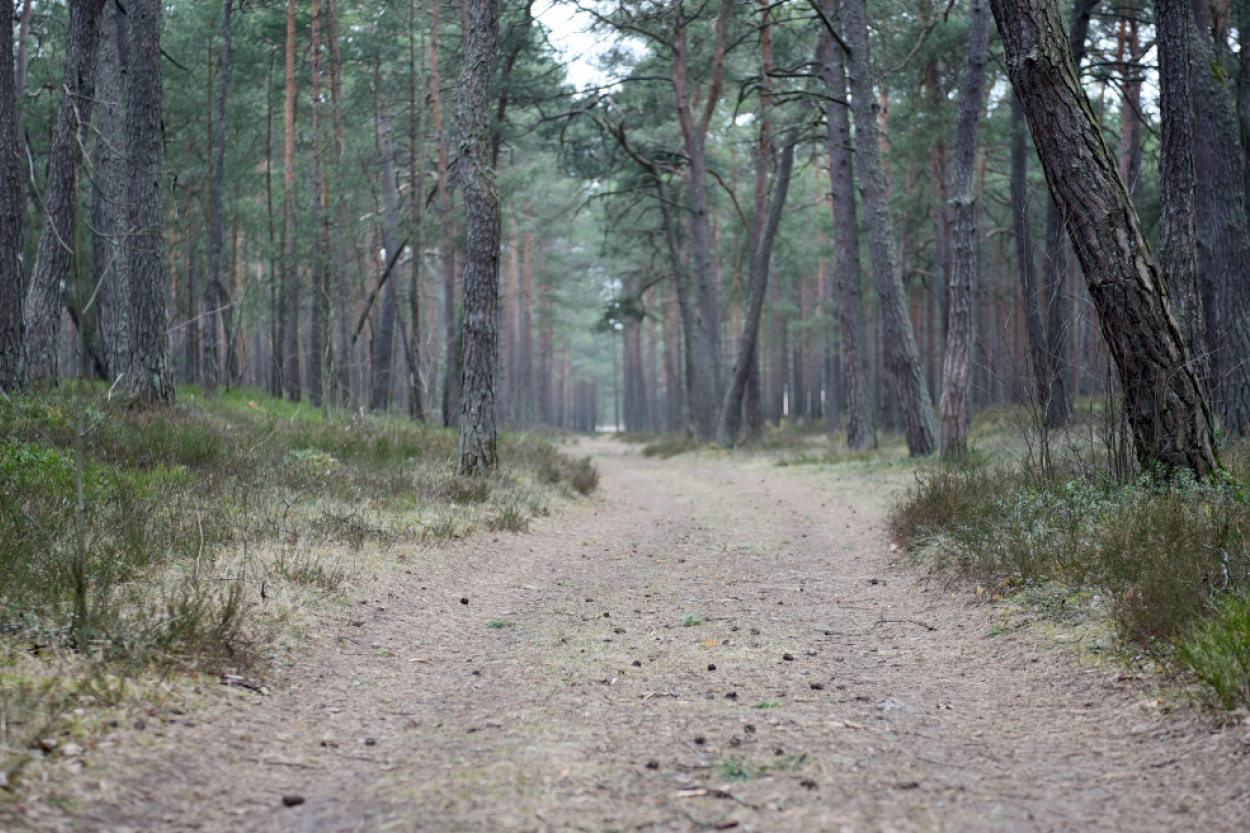
[[[504,435],[501,472],[465,478],[450,430],[196,393],[152,409],[99,385],[0,396],[0,780],[48,753],[82,687],[244,673],[362,549],[522,532],[598,485],[546,438]],[[76,670],[41,677],[40,658]]]

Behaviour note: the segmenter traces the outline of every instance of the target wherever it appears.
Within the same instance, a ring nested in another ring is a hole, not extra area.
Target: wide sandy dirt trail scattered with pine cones
[[[270,697],[116,733],[74,829],[1250,825],[1245,727],[990,637],[896,563],[898,475],[582,450],[591,508],[410,552]]]

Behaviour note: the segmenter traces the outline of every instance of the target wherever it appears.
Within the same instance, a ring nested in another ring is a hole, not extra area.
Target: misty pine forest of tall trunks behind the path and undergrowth
[[[1122,391],[1140,462],[1209,470],[1250,415],[1245,4],[996,6],[1069,31],[1040,76],[990,5],[20,0],[0,388],[458,427],[489,381],[510,428],[944,457],[986,408]],[[1084,145],[1040,121],[1060,76]],[[1170,313],[1104,290],[1112,226]]]

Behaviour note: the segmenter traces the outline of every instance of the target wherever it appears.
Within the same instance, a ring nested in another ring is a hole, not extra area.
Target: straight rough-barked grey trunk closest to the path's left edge
[[[486,98],[495,78],[499,0],[469,0],[460,71],[459,169],[465,200],[464,370],[460,385],[460,474],[492,472],[499,361],[499,193],[490,155]]]

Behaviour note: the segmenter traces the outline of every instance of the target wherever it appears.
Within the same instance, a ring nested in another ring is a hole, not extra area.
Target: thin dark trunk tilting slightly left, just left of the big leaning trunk
[[[1029,341],[1029,369],[1032,371],[1030,401],[1049,414],[1046,401],[1054,368],[1046,350],[1046,331],[1038,303],[1038,274],[1032,263],[1032,226],[1029,223],[1029,144],[1025,138],[1024,109],[1011,96],[1011,223],[1016,241],[1016,273],[1024,296],[1025,329]],[[1049,418],[1048,418],[1049,425]]]

